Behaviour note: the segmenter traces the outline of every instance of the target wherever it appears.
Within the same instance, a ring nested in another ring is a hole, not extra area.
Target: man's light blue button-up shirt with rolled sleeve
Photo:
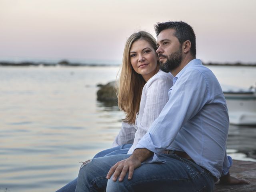
[[[174,78],[169,101],[136,148],[154,156],[146,162],[161,162],[164,150],[186,152],[196,164],[219,178],[232,161],[226,155],[228,109],[222,89],[201,60],[190,61]]]

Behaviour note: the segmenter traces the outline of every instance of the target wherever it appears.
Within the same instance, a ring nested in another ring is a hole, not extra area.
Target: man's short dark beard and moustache
[[[161,55],[160,55],[161,56]],[[162,55],[164,56],[164,55]],[[163,72],[171,72],[172,70],[176,69],[180,66],[182,62],[182,50],[181,47],[176,52],[170,54],[169,56],[165,56],[167,58],[165,63],[160,62],[160,69]]]

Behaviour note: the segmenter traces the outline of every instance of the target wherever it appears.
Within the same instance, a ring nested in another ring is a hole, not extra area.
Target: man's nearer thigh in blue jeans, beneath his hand
[[[108,180],[107,192],[147,191],[147,192],[200,192],[212,191],[214,180],[200,166],[176,154],[162,154],[165,163],[142,164],[134,170],[132,180],[126,175],[123,182]]]

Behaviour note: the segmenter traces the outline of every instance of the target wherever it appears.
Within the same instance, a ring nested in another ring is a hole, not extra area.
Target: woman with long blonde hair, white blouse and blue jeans
[[[133,152],[168,101],[172,78],[172,74],[159,70],[154,37],[144,31],[132,34],[125,44],[118,88],[118,106],[126,117],[114,140],[116,147],[94,158]],[[74,191],[75,187],[73,180],[58,192]]]

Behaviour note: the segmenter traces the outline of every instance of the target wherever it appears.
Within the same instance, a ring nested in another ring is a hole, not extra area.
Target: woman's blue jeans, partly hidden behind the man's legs
[[[132,144],[124,144],[121,146],[112,147],[97,153],[93,158],[116,155],[116,154],[127,154],[131,146]],[[76,182],[77,182],[77,178],[75,178],[74,180],[72,180],[71,182],[66,184],[64,187],[57,190],[56,192],[74,192],[76,190]]]

